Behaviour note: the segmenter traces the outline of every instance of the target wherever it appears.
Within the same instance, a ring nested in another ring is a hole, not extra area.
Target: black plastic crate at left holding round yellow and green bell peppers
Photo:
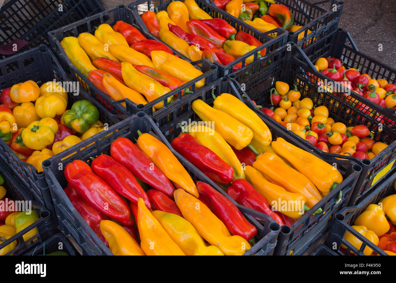
[[[59,62],[56,60],[52,51],[44,45],[32,48],[21,54],[2,60],[0,65],[0,89],[11,87],[16,83],[32,80],[39,85],[47,81],[69,81],[70,78],[65,75]],[[110,114],[99,102],[91,98],[80,87],[78,95],[73,95],[72,90],[69,92],[68,109],[77,100],[89,100],[99,110],[99,121],[111,126],[123,119],[124,115]],[[10,147],[0,140],[0,160],[2,166],[8,167],[10,171],[17,174],[23,185],[29,188],[29,200],[45,206],[50,212],[53,212],[51,196],[46,183],[44,172],[38,173],[32,165],[22,162]],[[30,169],[32,168],[32,169]]]

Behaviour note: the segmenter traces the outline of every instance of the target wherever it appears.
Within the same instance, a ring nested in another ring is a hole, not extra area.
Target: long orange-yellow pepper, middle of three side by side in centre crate
[[[265,179],[291,193],[303,194],[307,205],[314,206],[322,199],[315,185],[299,171],[288,166],[274,153],[264,152],[257,156],[253,167],[261,172]],[[287,177],[286,177],[287,176]]]

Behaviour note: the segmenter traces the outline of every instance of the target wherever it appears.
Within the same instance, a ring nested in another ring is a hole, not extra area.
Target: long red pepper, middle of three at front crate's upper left
[[[146,192],[142,189],[136,178],[123,165],[116,162],[107,154],[100,154],[91,163],[93,173],[106,181],[120,195],[137,204],[143,198],[148,209],[151,209]]]

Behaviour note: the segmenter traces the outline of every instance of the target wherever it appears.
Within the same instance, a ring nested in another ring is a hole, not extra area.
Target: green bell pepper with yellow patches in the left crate
[[[85,133],[89,125],[99,120],[99,111],[88,100],[73,103],[72,108],[63,115],[63,122],[78,133]]]

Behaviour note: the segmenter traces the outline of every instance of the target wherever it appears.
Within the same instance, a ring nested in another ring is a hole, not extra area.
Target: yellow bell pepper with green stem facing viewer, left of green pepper
[[[58,131],[58,123],[49,117],[40,121],[33,121],[21,134],[23,143],[35,150],[42,150],[53,143],[55,133]]]

